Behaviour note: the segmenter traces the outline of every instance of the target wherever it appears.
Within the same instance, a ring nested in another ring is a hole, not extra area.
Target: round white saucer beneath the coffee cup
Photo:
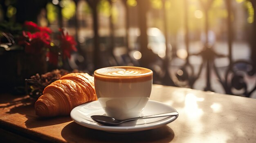
[[[168,106],[162,102],[149,100],[141,116],[160,114],[166,112],[177,112],[173,107]],[[79,125],[85,126],[87,128],[92,128],[95,130],[103,130],[107,132],[137,132],[142,130],[150,130],[153,128],[158,128],[162,125],[171,123],[177,116],[172,117],[158,117],[151,119],[141,119],[137,121],[130,121],[126,123],[121,123],[119,126],[106,126],[101,125],[94,120],[92,120],[92,115],[106,115],[104,110],[101,108],[99,101],[92,101],[89,103],[82,104],[74,108],[70,116]]]

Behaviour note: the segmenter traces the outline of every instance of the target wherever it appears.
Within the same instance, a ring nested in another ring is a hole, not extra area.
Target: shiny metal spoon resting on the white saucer
[[[91,116],[91,118],[94,121],[101,123],[102,125],[118,125],[126,121],[134,121],[138,119],[148,119],[148,118],[165,117],[165,116],[177,116],[178,114],[179,114],[178,112],[168,112],[168,113],[155,114],[155,115],[144,116],[144,117],[129,118],[124,120],[118,120],[112,117],[102,116],[102,115],[93,115]]]

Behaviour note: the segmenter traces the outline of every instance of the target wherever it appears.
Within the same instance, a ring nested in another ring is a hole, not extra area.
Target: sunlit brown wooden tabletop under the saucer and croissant
[[[14,98],[1,95],[0,106]],[[41,119],[28,101],[0,108],[0,142],[256,143],[256,99],[154,85],[150,100],[171,105],[179,117],[153,130],[116,134],[85,128],[70,117]]]

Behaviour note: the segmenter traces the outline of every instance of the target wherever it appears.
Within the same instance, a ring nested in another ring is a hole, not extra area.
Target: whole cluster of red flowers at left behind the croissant
[[[59,37],[59,46],[51,46],[50,33],[52,30],[49,27],[40,27],[34,22],[25,22],[24,27],[28,31],[23,31],[18,44],[25,47],[26,53],[31,54],[42,54],[44,51],[47,52],[49,57],[49,63],[58,64],[58,53],[62,51],[63,59],[70,58],[70,53],[76,50],[76,41],[74,37],[64,34],[63,29],[60,29],[61,35]]]

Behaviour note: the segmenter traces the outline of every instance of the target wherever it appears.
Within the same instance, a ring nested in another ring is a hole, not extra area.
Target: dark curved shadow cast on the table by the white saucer
[[[67,142],[162,142],[169,143],[173,137],[173,130],[167,125],[160,128],[134,133],[110,133],[85,128],[75,122],[69,123],[61,131],[61,136]]]

